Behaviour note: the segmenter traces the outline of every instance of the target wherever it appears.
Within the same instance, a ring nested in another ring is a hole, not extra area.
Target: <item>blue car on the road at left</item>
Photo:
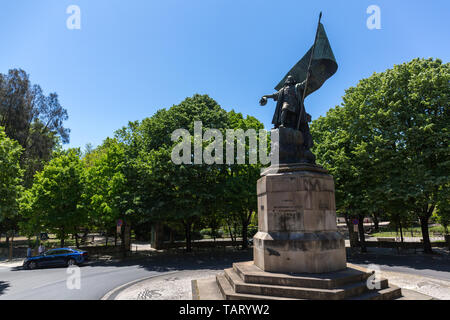
[[[51,249],[43,254],[25,259],[23,267],[25,269],[36,269],[39,267],[50,266],[66,266],[79,265],[88,260],[88,253],[86,251],[60,248]]]

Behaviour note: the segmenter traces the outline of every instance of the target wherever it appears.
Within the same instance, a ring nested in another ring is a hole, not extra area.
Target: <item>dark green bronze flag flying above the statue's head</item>
[[[311,47],[305,56],[297,62],[288,74],[286,74],[283,80],[276,86],[275,90],[279,91],[284,86],[284,82],[289,75],[294,77],[295,81],[298,83],[306,80],[308,64],[313,48],[314,46]],[[308,80],[308,91],[306,92],[306,96],[318,90],[325,81],[336,73],[337,69],[338,65],[333,50],[331,50],[325,28],[322,23],[319,23],[317,42],[311,63],[311,76]]]

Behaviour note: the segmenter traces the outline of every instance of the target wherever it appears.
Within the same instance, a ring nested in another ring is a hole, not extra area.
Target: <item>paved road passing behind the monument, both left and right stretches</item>
[[[81,268],[81,289],[69,290],[65,268],[22,270],[0,267],[1,299],[97,300],[110,290],[134,280],[164,275],[177,270],[205,272],[229,268],[233,262],[252,260],[249,251],[218,251],[215,254],[163,255],[145,260],[92,263]],[[450,257],[436,255],[349,254],[357,265],[377,264],[382,271],[403,272],[450,281]]]

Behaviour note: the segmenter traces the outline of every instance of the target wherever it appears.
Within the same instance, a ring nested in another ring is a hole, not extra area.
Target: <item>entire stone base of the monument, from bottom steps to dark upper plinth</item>
[[[193,282],[194,298],[396,299],[401,289],[347,264],[338,232],[334,180],[314,164],[300,131],[276,129],[279,165],[257,183],[258,233],[253,261],[235,263],[216,279]],[[371,283],[376,279],[375,283]],[[368,283],[369,280],[369,283]],[[373,290],[371,288],[374,288]]]

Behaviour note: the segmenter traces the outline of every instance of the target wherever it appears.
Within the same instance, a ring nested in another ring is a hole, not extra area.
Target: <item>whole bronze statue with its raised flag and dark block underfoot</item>
[[[322,13],[312,48],[277,85],[277,92],[265,95],[260,100],[261,106],[267,104],[267,99],[277,102],[272,123],[280,133],[280,161],[285,163],[315,164],[315,157],[310,151],[314,145],[309,131],[311,115],[306,112],[304,101],[335,74],[338,68],[325,29],[320,23],[321,18]],[[290,130],[294,132],[289,132]],[[297,136],[299,138],[293,138]],[[292,141],[297,145],[288,146]]]

